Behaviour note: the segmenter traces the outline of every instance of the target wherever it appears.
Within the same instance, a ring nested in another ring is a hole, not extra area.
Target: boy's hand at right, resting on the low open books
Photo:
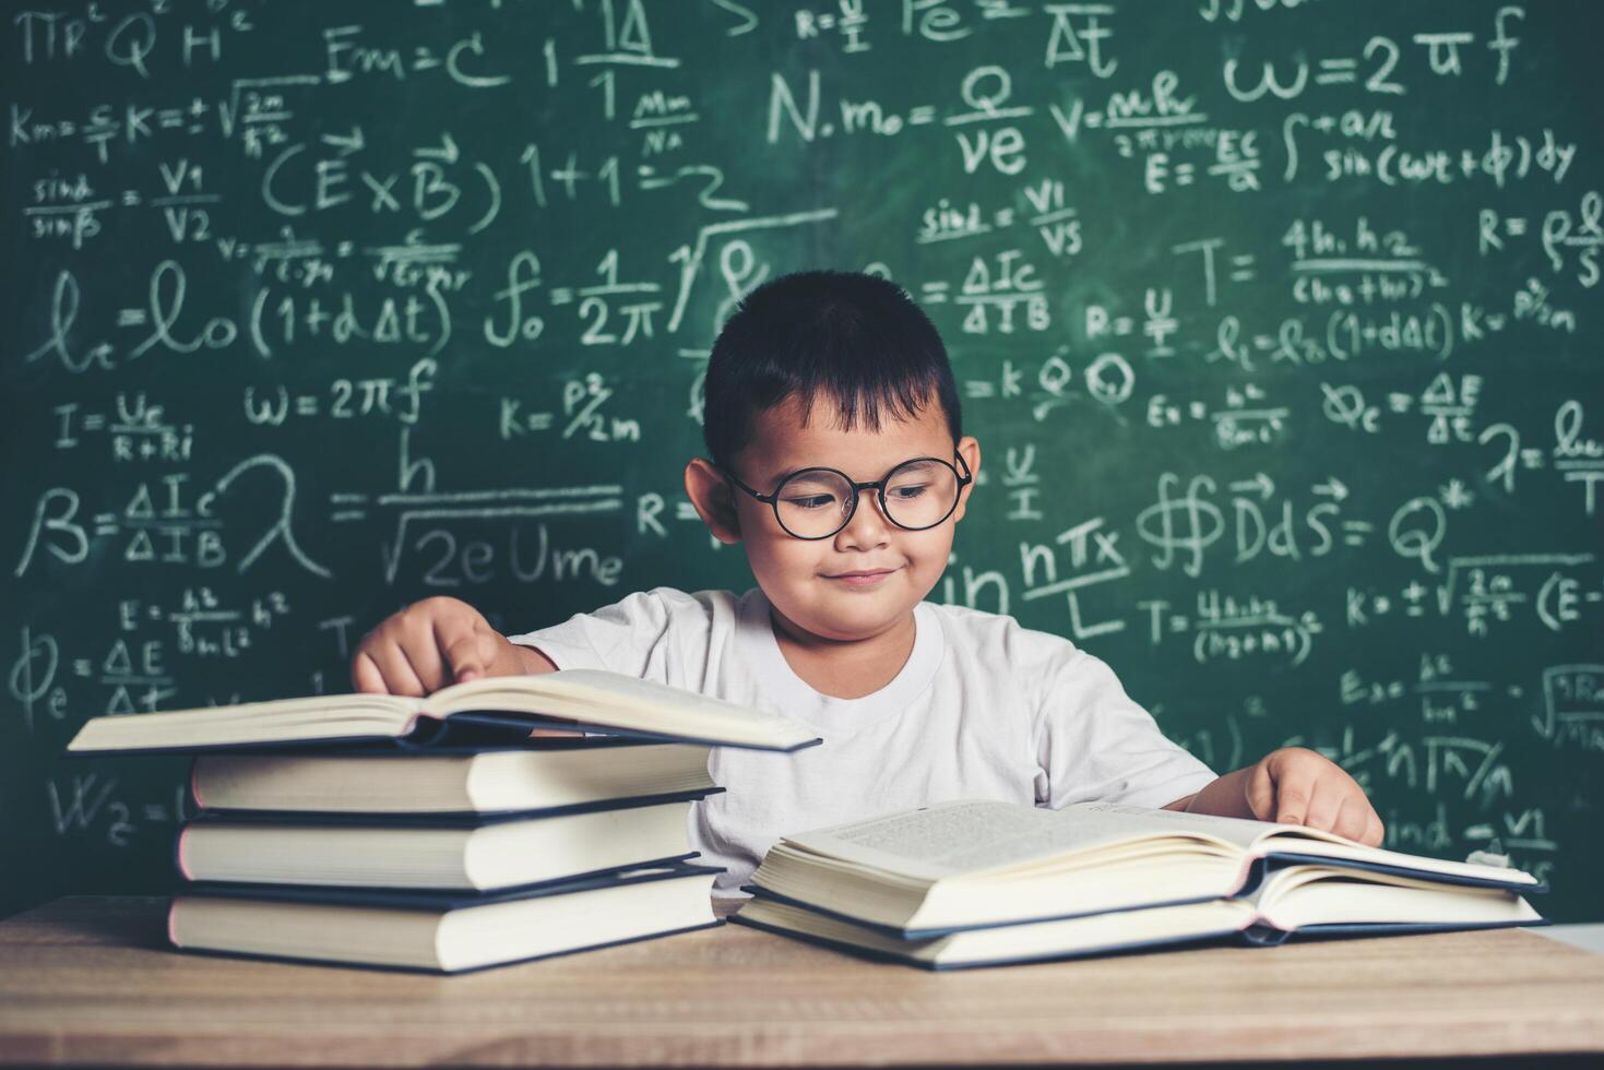
[[[1381,845],[1381,818],[1352,776],[1306,748],[1270,751],[1248,770],[1243,794],[1261,821],[1328,829]]]

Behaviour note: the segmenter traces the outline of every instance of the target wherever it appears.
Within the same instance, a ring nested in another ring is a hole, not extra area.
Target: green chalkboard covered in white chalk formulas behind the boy
[[[0,26],[0,913],[170,887],[88,717],[744,589],[683,497],[731,303],[884,273],[982,483],[932,598],[1296,741],[1405,850],[1604,881],[1588,0],[101,3]]]

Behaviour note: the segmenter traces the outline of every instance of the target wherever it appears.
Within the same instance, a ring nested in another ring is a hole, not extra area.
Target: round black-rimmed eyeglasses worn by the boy
[[[858,510],[858,496],[874,491],[881,513],[898,528],[924,531],[934,528],[958,509],[958,492],[974,476],[962,454],[954,454],[964,467],[962,475],[940,457],[914,457],[885,473],[874,483],[857,483],[836,468],[802,468],[792,472],[773,494],[759,494],[733,472],[719,465],[731,483],[775,510],[775,520],[786,534],[797,539],[828,539],[849,523]]]

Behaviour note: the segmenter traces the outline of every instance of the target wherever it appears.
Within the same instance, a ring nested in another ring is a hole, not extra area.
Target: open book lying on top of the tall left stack
[[[204,751],[213,748],[372,743],[428,746],[464,727],[584,728],[606,735],[764,751],[796,751],[820,740],[804,723],[618,672],[563,669],[539,675],[484,677],[427,698],[318,695],[159,714],[95,717],[69,754]]]

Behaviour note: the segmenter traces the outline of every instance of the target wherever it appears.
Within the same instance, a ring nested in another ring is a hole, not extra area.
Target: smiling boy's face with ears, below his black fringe
[[[847,432],[839,409],[820,398],[808,424],[791,396],[762,412],[752,440],[735,456],[735,475],[752,489],[772,494],[799,468],[826,467],[853,481],[882,480],[903,460],[938,457],[962,473],[946,417],[934,399],[911,420],[882,419],[879,430],[861,420]],[[980,470],[980,444],[958,443],[970,473]],[[959,491],[953,515],[934,528],[908,531],[885,513],[874,491],[863,491],[852,520],[834,536],[797,539],[775,520],[775,512],[744,491],[728,486],[703,459],[687,468],[687,489],[698,512],[722,542],[743,542],[757,586],[796,629],[818,638],[871,638],[906,621],[913,606],[935,587],[946,569],[954,525],[974,484]],[[733,509],[733,513],[731,513]],[[850,579],[852,573],[877,573]]]

